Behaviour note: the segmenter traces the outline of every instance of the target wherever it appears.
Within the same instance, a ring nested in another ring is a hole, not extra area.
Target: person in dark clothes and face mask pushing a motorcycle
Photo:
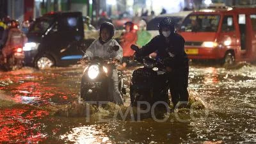
[[[175,22],[168,17],[159,22],[159,34],[141,47],[137,56],[157,52],[157,60],[166,66],[173,106],[179,101],[188,102],[188,56],[184,52],[185,40],[175,33]]]

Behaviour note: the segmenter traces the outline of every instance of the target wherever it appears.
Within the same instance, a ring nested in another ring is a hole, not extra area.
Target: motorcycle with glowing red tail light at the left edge
[[[17,70],[23,67],[25,54],[22,47],[14,47],[12,53],[7,56],[7,62],[4,63],[4,57],[0,51],[0,65],[5,70]]]

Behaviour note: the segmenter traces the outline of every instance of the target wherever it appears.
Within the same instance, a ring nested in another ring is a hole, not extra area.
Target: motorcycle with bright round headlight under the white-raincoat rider
[[[112,47],[109,51],[109,56],[113,54],[111,50],[118,51],[118,49],[118,45]],[[111,102],[108,93],[108,81],[110,79],[108,77],[109,68],[115,67],[116,63],[113,63],[113,60],[111,60],[111,58],[106,60],[99,57],[93,57],[91,60],[85,60],[84,63],[86,63],[87,66],[86,68],[84,68],[81,80],[81,95],[79,97],[79,103],[83,104],[84,102],[92,101]],[[120,70],[118,70],[118,90],[122,96],[126,94],[123,83],[123,74]]]

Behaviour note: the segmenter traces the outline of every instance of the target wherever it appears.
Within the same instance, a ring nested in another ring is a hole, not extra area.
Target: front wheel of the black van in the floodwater
[[[35,60],[35,67],[40,70],[45,69],[45,68],[51,68],[54,65],[55,65],[54,59],[47,54],[38,56]]]

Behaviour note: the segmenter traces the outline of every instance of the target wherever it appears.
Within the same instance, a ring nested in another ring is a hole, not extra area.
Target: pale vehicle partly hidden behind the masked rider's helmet
[[[147,31],[149,31],[152,34],[152,37],[159,35],[158,31],[158,24],[161,20],[164,19],[164,17],[172,17],[173,20],[175,20],[176,28],[179,28],[181,22],[189,13],[193,11],[182,11],[179,13],[170,13],[170,14],[163,14],[163,15],[158,15],[154,19],[150,20],[147,22]]]

